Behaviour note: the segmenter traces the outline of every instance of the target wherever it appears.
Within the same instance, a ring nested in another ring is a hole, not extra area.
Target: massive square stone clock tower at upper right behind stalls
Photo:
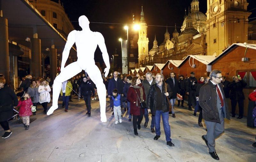
[[[248,41],[246,0],[207,0],[207,55],[220,55],[233,43]]]

